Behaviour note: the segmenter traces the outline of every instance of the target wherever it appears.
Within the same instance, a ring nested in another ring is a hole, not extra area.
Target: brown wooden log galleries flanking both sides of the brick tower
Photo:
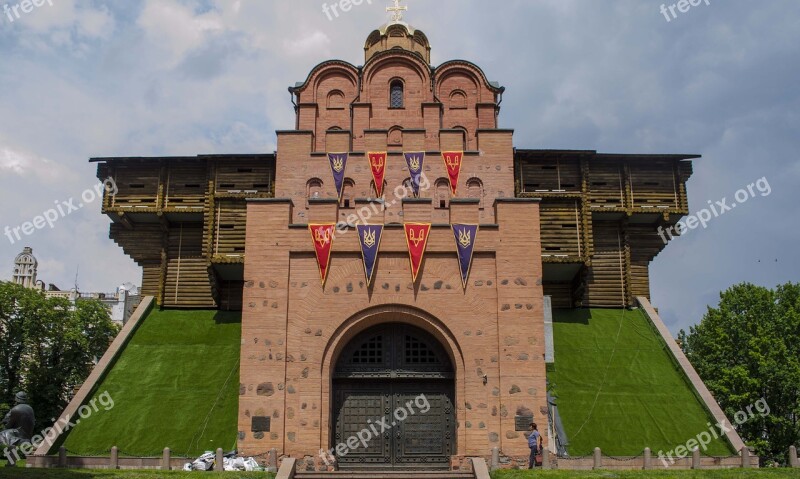
[[[658,228],[689,213],[689,160],[698,156],[514,155],[516,197],[540,199],[542,282],[553,306],[617,308],[649,297],[649,264],[669,240]],[[98,178],[116,182],[103,213],[112,220],[111,239],[142,267],[142,294],[166,308],[241,310],[247,200],[274,196],[274,154],[91,161]],[[459,195],[481,190],[461,188]],[[441,189],[421,196],[436,204],[450,199]],[[340,216],[355,208],[343,198]]]

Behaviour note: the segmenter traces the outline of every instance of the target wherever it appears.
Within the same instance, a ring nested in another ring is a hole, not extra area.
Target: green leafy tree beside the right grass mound
[[[742,439],[762,462],[785,464],[800,441],[800,284],[734,286],[678,338]],[[769,414],[737,425],[736,413],[759,400]]]

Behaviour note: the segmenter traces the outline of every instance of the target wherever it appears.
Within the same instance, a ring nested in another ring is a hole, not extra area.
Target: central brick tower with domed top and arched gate
[[[363,66],[326,61],[290,88],[297,120],[277,134],[275,197],[247,202],[240,449],[315,468],[331,449],[342,468],[449,468],[493,447],[526,456],[517,423],[547,422],[539,202],[515,198],[504,89],[466,61],[432,66],[427,37],[402,21],[364,50]],[[426,154],[418,197],[412,151]],[[464,152],[455,195],[445,151]],[[341,196],[332,152],[349,153]],[[387,153],[381,197],[370,152]],[[432,224],[416,281],[411,222]],[[317,223],[338,223],[324,285]],[[385,227],[371,286],[365,223]],[[480,225],[466,287],[455,223]],[[390,431],[346,445],[383,419]]]

